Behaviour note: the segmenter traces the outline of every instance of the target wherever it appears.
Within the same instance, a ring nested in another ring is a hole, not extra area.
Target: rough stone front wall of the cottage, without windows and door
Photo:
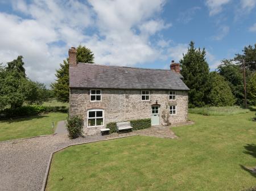
[[[109,122],[151,118],[151,106],[158,104],[160,124],[168,125],[187,121],[187,91],[176,91],[176,100],[169,100],[169,91],[151,90],[150,101],[141,100],[141,90],[101,90],[101,101],[90,101],[90,90],[71,89],[69,114],[79,114],[84,120],[84,133],[100,134],[102,126],[87,127],[89,109],[104,109],[104,126]],[[169,114],[169,105],[177,105],[177,113]]]

